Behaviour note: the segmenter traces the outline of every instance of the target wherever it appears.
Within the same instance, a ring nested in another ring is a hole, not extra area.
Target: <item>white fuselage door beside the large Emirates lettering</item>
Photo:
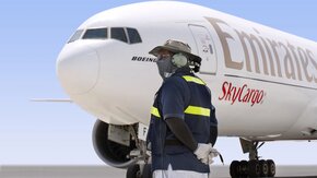
[[[201,57],[200,73],[216,73],[216,57],[214,43],[204,26],[189,24],[190,32],[195,38],[198,55]]]

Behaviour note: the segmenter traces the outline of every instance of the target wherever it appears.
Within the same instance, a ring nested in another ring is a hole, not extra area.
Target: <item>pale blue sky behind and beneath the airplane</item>
[[[95,118],[68,98],[56,58],[90,16],[133,0],[1,0],[0,165],[103,165],[92,144]],[[317,1],[199,0],[192,2],[317,41]],[[220,138],[225,164],[247,159],[238,139]],[[317,142],[269,142],[260,156],[278,165],[317,165]],[[216,161],[216,164],[220,162]]]

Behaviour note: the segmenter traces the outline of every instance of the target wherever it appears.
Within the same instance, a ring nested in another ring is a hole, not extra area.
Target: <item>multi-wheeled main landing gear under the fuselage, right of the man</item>
[[[259,159],[258,150],[263,145],[262,142],[247,141],[240,139],[244,153],[249,153],[249,161],[234,161],[230,166],[230,175],[232,178],[245,178],[245,177],[274,177],[275,164],[273,161]]]

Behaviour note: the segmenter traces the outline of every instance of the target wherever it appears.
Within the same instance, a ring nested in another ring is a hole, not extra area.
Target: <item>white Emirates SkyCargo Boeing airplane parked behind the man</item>
[[[206,7],[150,1],[101,12],[78,27],[56,72],[70,100],[97,118],[96,153],[106,164],[149,176],[146,129],[162,84],[149,51],[167,39],[202,58],[197,75],[212,92],[219,135],[239,138],[249,161],[232,177],[274,177],[266,142],[317,140],[317,44]]]

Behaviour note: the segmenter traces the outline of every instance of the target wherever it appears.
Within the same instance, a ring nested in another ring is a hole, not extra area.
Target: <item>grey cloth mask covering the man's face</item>
[[[158,73],[163,80],[169,78],[175,71],[176,67],[172,63],[171,57],[164,59],[157,59],[156,61]]]

